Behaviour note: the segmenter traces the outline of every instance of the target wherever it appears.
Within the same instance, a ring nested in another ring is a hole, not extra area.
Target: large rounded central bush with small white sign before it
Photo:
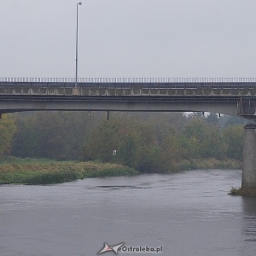
[[[85,160],[117,161],[143,171],[152,158],[153,131],[134,119],[103,120],[84,143]],[[113,150],[117,151],[113,155]],[[149,171],[149,170],[148,170]],[[150,171],[149,171],[150,172]]]

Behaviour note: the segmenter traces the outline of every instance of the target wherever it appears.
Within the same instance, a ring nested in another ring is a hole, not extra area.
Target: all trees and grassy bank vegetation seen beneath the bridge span
[[[241,168],[243,125],[243,119],[218,118],[214,113],[111,113],[110,120],[102,112],[3,114],[0,182],[56,183],[130,175],[134,170]],[[78,161],[117,166],[98,172]]]

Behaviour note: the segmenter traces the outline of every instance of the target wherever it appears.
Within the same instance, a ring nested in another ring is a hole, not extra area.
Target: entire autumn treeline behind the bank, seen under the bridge
[[[166,172],[181,160],[241,160],[244,119],[201,113],[29,112],[0,119],[0,156],[101,160]]]

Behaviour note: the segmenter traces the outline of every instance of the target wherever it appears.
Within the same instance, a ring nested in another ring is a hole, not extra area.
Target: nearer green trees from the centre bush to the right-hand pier
[[[210,114],[209,119],[194,114],[187,119],[182,131],[172,126],[160,129],[157,124],[160,137],[147,121],[125,116],[103,121],[85,142],[84,158],[115,160],[140,172],[172,172],[178,169],[179,161],[209,158],[222,160],[223,166],[229,166],[225,158],[241,160],[243,128],[222,131],[216,118],[216,114]],[[112,155],[113,149],[118,152],[116,156]]]

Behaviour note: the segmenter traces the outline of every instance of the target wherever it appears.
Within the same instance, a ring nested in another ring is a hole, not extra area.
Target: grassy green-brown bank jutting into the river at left
[[[85,177],[131,176],[134,169],[118,164],[6,158],[0,160],[0,184],[65,183]]]

